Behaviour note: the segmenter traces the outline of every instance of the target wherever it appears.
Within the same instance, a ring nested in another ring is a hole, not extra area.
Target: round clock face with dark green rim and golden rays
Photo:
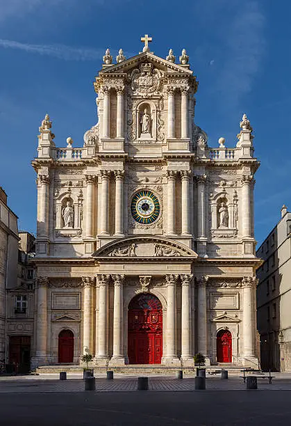
[[[139,223],[148,225],[158,219],[160,203],[151,191],[138,191],[131,201],[131,214]]]

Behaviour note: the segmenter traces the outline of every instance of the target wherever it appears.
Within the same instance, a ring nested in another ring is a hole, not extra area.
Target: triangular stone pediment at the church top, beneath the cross
[[[169,62],[166,59],[159,58],[158,56],[149,52],[143,52],[142,54],[133,56],[132,58],[126,59],[125,61],[103,68],[99,74],[101,76],[104,74],[119,74],[121,72],[128,73],[130,70],[138,67],[138,65],[143,62],[153,63],[156,68],[163,72],[174,72],[178,74],[185,74],[187,76],[191,76],[193,74],[193,72],[188,68],[176,63]]]

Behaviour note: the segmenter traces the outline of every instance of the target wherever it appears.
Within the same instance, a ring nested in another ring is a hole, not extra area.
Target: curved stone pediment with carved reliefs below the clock
[[[95,251],[94,258],[197,258],[191,248],[162,237],[125,237]]]

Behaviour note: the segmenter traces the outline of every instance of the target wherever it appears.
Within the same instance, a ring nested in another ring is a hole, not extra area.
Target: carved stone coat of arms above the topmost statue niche
[[[135,95],[149,96],[160,87],[160,71],[152,63],[141,63],[139,69],[131,72],[131,88]]]

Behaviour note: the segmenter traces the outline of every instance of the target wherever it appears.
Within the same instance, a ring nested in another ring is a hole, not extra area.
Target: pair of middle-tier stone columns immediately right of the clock
[[[189,181],[191,172],[181,171],[182,181],[182,235],[190,235]],[[176,177],[178,171],[167,171],[168,235],[176,235]]]

